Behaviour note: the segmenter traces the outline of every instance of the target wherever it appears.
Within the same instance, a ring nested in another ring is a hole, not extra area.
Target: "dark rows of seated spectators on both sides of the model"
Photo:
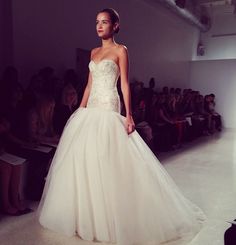
[[[58,143],[68,118],[83,94],[75,70],[66,70],[63,86],[61,81],[55,76],[53,68],[44,67],[32,76],[30,85],[24,91],[18,82],[18,71],[14,67],[7,67],[4,71],[0,81],[0,112],[11,125],[7,134],[7,146],[11,152],[21,154],[19,149],[27,144],[32,148]],[[169,142],[170,148],[176,148],[188,140],[189,135],[194,138],[221,130],[221,116],[215,111],[214,94],[203,98],[199,91],[190,88],[169,89],[165,86],[161,93],[156,93],[154,88],[153,77],[147,88],[140,81],[130,84],[136,129],[151,148],[155,148],[153,135],[159,140],[163,136],[162,140]],[[122,105],[122,95],[120,98]],[[124,106],[121,109],[121,114],[125,115]],[[53,154],[49,155],[51,159]],[[36,161],[35,156],[26,156]],[[50,159],[47,158],[47,161],[50,162]]]

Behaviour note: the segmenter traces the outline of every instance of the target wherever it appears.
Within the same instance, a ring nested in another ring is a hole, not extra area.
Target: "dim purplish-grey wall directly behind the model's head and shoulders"
[[[59,74],[75,67],[76,48],[100,45],[95,18],[104,7],[120,13],[117,41],[129,49],[131,80],[147,82],[154,76],[159,87],[188,84],[198,31],[143,0],[13,0],[15,64],[22,79],[28,80],[45,65],[55,67]]]

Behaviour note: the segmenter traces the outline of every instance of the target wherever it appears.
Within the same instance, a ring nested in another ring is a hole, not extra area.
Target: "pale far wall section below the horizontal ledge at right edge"
[[[216,95],[217,111],[224,126],[236,127],[236,59],[194,61],[191,63],[190,87],[202,94]]]

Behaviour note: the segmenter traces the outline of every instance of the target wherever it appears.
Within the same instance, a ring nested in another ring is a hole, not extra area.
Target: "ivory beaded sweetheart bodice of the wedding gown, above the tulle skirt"
[[[120,70],[115,61],[103,59],[99,63],[89,63],[92,75],[92,87],[87,103],[88,108],[103,108],[120,113],[120,98],[117,80]]]

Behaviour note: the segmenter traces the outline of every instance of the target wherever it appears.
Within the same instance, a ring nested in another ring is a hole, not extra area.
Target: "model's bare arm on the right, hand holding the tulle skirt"
[[[121,80],[121,91],[124,98],[125,111],[126,111],[126,130],[128,134],[134,131],[135,125],[132,118],[131,110],[131,95],[130,95],[130,86],[129,86],[129,59],[128,51],[124,46],[120,47],[119,50],[119,67],[120,67],[120,80]]]

